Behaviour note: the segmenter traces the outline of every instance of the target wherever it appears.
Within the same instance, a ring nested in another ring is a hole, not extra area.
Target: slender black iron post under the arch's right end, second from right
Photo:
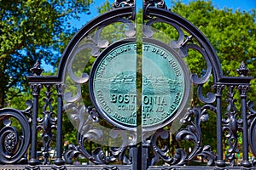
[[[224,167],[225,162],[223,160],[223,142],[222,142],[222,110],[221,110],[221,96],[224,85],[216,85],[216,108],[217,108],[217,161],[218,167]]]

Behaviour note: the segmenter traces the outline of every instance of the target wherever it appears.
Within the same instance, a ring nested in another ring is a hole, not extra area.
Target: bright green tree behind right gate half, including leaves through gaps
[[[172,1],[171,11],[183,16],[194,24],[212,43],[221,63],[224,76],[237,77],[236,69],[239,68],[241,61],[245,61],[249,69],[251,77],[256,76],[256,70],[253,65],[256,65],[256,11],[233,11],[230,8],[218,9],[214,8],[211,1],[194,0],[189,4],[184,4],[182,1]],[[155,24],[155,28],[164,32],[170,37],[173,28],[164,24]],[[193,73],[201,74],[206,67],[204,62],[201,62],[199,55],[190,53],[187,57],[189,69]],[[205,92],[212,91],[212,80],[204,86]],[[255,80],[252,81],[251,91],[255,92]],[[196,100],[196,91],[194,90],[194,100]],[[239,95],[239,93],[236,93]],[[249,99],[255,101],[253,93],[248,93]],[[228,96],[224,96],[228,98]],[[239,101],[239,100],[238,100]],[[225,101],[224,101],[225,103]],[[194,105],[200,105],[195,101]],[[239,102],[236,104],[239,106]],[[223,109],[226,111],[226,107]],[[216,146],[216,116],[211,114],[207,123],[202,123],[202,139],[204,144],[211,144],[212,149]],[[209,135],[210,134],[210,135]]]

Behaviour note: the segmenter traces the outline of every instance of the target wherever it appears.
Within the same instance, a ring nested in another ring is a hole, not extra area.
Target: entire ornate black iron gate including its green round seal
[[[141,17],[132,0],[117,0],[73,37],[56,76],[40,76],[34,65],[27,109],[0,111],[0,169],[256,169],[246,65],[224,77],[207,38],[164,1],[144,0]],[[191,50],[205,63],[201,73],[189,72]],[[66,150],[64,114],[78,132]],[[210,119],[216,146],[202,138]],[[75,165],[78,156],[87,164]]]

